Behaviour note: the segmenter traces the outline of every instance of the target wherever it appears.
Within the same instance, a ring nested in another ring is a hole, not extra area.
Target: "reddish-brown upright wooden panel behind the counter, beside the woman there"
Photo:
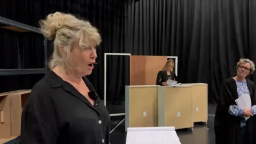
[[[157,73],[166,61],[166,56],[131,55],[130,85],[155,85]]]

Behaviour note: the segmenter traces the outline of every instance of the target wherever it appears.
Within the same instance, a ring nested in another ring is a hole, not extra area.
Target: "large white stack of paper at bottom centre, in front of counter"
[[[129,127],[126,144],[181,144],[174,127]]]

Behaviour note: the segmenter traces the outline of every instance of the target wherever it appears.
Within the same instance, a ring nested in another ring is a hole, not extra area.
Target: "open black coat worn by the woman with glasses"
[[[251,95],[252,106],[256,105],[256,93],[255,85],[249,79],[246,79],[247,87]],[[237,86],[235,80],[230,77],[227,78],[220,90],[218,99],[218,105],[214,118],[214,131],[215,131],[215,142],[237,144],[240,137],[238,134],[241,131],[241,117],[236,117],[228,113],[230,105],[236,105],[235,100],[238,98]],[[256,143],[256,121],[255,116],[250,117],[246,121],[247,132],[246,140],[248,142],[244,144],[255,144]]]

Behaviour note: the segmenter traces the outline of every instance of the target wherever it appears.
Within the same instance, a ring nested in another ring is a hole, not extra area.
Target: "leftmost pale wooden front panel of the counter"
[[[158,126],[157,87],[130,88],[130,126]]]

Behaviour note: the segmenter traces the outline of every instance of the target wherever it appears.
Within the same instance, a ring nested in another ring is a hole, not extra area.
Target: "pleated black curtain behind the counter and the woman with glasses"
[[[141,0],[128,8],[127,45],[133,54],[178,56],[181,82],[207,83],[213,103],[223,79],[236,75],[239,58],[256,62],[255,3]]]

